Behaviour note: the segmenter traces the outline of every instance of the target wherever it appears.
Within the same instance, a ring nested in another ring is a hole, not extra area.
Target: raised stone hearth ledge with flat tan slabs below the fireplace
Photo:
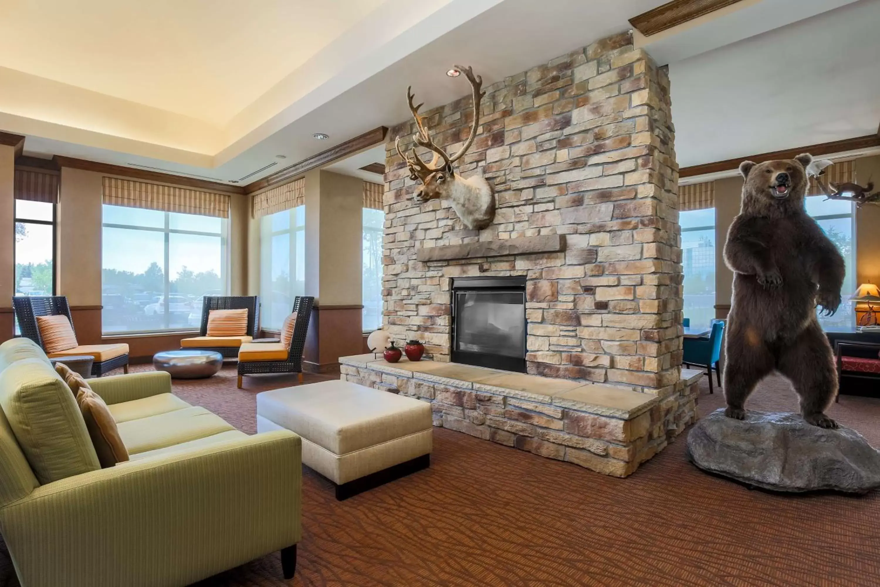
[[[626,477],[696,419],[703,373],[682,370],[679,393],[429,360],[340,358],[341,379],[428,401],[434,425]]]

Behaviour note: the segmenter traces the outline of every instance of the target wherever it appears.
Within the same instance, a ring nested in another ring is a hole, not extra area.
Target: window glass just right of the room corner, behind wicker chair
[[[305,206],[260,218],[260,323],[280,330],[305,293]]]

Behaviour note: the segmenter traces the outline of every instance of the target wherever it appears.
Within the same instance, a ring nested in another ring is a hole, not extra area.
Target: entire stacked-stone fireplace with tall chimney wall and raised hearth
[[[583,451],[584,438],[602,437],[594,432],[612,426],[605,420],[620,418],[614,422],[627,433],[604,437],[601,442],[611,444],[602,447],[601,463],[590,457],[583,466],[631,473],[695,418],[695,379],[682,378],[680,369],[678,165],[669,79],[623,33],[484,89],[480,128],[458,168],[464,176],[481,173],[495,187],[495,220],[482,231],[468,230],[448,202],[414,199],[415,182],[393,144],[400,136],[401,148],[412,146],[414,122],[389,132],[384,327],[396,341],[423,341],[436,362],[554,378],[551,383],[566,390],[559,398],[574,393],[580,403],[550,398],[555,392],[546,401],[540,394],[510,395],[519,385],[510,378],[525,377],[514,374],[498,378],[504,385],[488,385],[468,371],[470,379],[458,385],[414,367],[352,361],[343,378],[432,401],[438,426],[580,464],[585,458],[576,451]],[[471,98],[423,115],[435,142],[456,150],[473,120]],[[469,287],[480,285],[482,292]],[[524,340],[517,297],[524,300]],[[488,341],[501,325],[510,335]],[[518,349],[524,356],[514,358]],[[516,363],[480,363],[485,357],[473,356],[480,352]],[[449,387],[441,392],[429,380]],[[601,385],[592,390],[586,384]],[[571,385],[581,387],[569,392]],[[485,398],[473,391],[478,388]],[[583,399],[597,393],[599,407]],[[615,393],[637,407],[602,407],[614,403]],[[605,420],[599,426],[595,418]],[[524,428],[522,422],[530,423]]]

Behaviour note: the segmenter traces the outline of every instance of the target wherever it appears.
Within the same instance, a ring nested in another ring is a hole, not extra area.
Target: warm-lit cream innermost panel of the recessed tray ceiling
[[[0,55],[12,70],[220,126],[384,1],[4,2]]]

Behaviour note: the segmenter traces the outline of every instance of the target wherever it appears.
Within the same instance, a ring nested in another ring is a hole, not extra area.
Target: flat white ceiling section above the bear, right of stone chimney
[[[862,0],[669,66],[678,165],[873,135],[880,0]]]

